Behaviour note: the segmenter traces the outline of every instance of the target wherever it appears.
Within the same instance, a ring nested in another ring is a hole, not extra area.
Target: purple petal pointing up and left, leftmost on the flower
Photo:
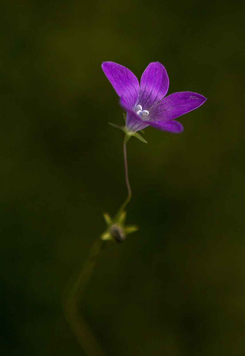
[[[123,96],[127,105],[132,109],[140,93],[138,79],[131,70],[114,62],[103,62],[101,67],[116,94]]]

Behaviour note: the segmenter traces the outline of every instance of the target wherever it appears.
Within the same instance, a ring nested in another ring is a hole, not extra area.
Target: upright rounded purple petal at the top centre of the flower
[[[138,103],[143,109],[149,110],[153,104],[157,104],[167,94],[168,85],[168,74],[163,65],[159,62],[150,63],[140,80]]]

